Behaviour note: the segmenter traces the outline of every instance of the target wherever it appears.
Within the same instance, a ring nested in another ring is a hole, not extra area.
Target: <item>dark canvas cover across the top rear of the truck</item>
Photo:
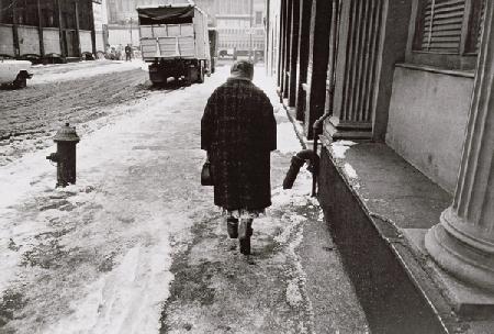
[[[193,5],[162,5],[154,8],[137,8],[141,25],[192,23]]]

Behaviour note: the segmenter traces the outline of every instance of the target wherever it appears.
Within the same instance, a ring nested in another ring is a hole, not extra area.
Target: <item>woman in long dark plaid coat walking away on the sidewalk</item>
[[[223,208],[231,238],[250,254],[252,220],[271,205],[270,152],[277,125],[268,97],[252,82],[254,65],[238,60],[207,100],[201,148],[207,152],[214,204]]]

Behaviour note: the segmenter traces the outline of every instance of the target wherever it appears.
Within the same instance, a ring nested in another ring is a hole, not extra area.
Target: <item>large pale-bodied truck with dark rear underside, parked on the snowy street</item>
[[[143,59],[153,84],[203,82],[211,73],[207,16],[192,4],[137,7]]]

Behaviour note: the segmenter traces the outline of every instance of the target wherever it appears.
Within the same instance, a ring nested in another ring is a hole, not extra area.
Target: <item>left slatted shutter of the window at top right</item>
[[[423,11],[422,51],[460,51],[465,0],[426,0]]]

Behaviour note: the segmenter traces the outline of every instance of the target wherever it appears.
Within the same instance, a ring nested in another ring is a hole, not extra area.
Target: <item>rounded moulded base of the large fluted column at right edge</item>
[[[451,220],[460,220],[451,208],[445,210],[440,224],[430,229],[425,236],[425,247],[433,259],[446,271],[456,278],[485,289],[494,291],[494,247],[483,243],[482,249],[475,247],[480,242],[473,237],[461,234],[453,226]]]

